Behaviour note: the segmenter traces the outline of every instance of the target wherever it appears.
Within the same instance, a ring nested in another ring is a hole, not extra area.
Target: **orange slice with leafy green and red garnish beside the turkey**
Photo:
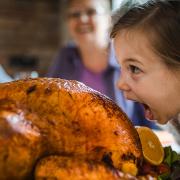
[[[157,135],[147,127],[137,127],[144,160],[139,175],[151,175],[158,180],[180,178],[180,155],[170,146],[162,147]]]

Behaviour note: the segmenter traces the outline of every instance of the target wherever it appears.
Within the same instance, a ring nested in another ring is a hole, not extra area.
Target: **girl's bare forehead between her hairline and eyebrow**
[[[141,31],[122,30],[114,38],[114,48],[119,62],[136,59],[143,63],[165,65],[151,41]]]

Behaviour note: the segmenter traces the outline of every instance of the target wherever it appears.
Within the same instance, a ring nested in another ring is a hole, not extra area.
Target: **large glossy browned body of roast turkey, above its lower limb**
[[[49,155],[139,163],[138,134],[121,109],[77,81],[37,78],[0,84],[0,179],[28,179]]]

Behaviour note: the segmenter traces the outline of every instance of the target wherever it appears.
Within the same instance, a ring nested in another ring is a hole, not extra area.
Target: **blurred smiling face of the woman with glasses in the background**
[[[73,0],[68,8],[67,18],[70,34],[78,43],[96,43],[107,35],[108,15],[97,0]]]

